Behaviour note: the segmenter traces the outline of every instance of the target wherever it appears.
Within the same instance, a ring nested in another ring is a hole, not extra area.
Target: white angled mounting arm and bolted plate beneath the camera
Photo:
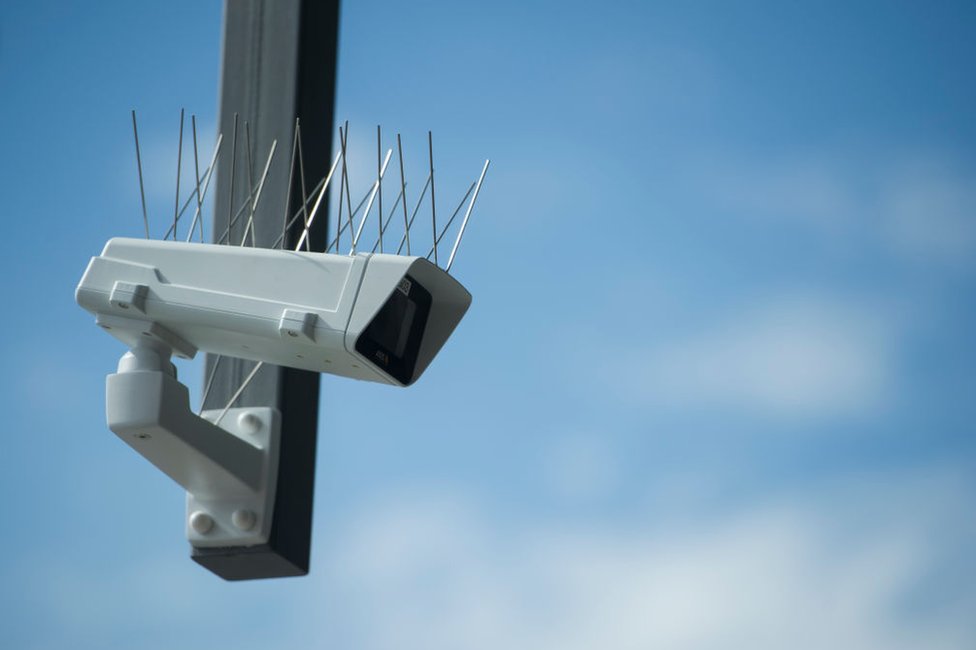
[[[106,379],[108,427],[187,491],[187,538],[196,547],[267,542],[277,484],[279,417],[272,408],[201,416],[176,379],[172,350],[139,341]],[[220,425],[220,426],[218,426]]]

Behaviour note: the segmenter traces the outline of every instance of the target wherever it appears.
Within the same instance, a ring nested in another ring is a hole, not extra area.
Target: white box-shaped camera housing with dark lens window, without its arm
[[[111,239],[76,291],[134,347],[197,350],[409,386],[471,294],[421,257]]]

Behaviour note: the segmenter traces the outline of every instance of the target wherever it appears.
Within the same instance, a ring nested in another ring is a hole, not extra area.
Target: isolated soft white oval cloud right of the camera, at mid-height
[[[632,399],[786,418],[869,411],[889,383],[890,324],[862,307],[777,298],[622,359]]]

